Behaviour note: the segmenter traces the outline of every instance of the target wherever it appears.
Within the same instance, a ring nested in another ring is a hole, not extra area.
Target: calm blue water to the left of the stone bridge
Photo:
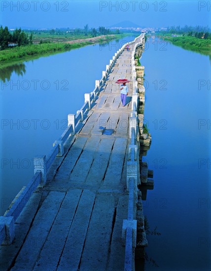
[[[34,174],[33,158],[48,154],[67,127],[68,114],[116,51],[136,36],[40,57],[0,70],[1,214]]]

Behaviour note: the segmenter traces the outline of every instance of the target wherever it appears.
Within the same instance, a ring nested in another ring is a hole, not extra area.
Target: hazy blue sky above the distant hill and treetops
[[[0,0],[0,25],[33,28],[211,26],[211,1]]]

